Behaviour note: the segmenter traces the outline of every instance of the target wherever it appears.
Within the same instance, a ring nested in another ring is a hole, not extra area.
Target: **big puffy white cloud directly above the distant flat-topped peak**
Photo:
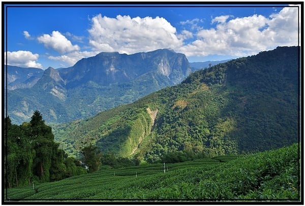
[[[92,18],[92,27],[88,29],[89,44],[96,51],[136,53],[160,48],[182,46],[176,28],[162,17],[116,16]]]

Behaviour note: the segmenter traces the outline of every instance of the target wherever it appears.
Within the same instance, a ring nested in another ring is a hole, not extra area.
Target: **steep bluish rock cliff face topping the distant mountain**
[[[130,82],[150,72],[165,76],[170,79],[170,84],[176,84],[186,78],[191,69],[184,54],[159,49],[131,55],[102,52],[59,71],[68,88],[89,81],[102,86]]]

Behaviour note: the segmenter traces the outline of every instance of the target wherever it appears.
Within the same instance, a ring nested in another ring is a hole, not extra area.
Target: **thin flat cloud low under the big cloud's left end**
[[[78,60],[80,60],[82,58],[90,57],[90,56],[95,56],[96,54],[98,54],[98,52],[75,51],[75,52],[71,52],[67,55],[49,56],[48,58],[52,59],[52,60],[56,60],[56,61],[62,61],[65,64],[67,64],[67,66],[73,66]]]

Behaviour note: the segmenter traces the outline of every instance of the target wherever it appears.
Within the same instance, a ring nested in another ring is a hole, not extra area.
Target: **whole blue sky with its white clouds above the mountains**
[[[223,60],[299,44],[295,5],[5,6],[5,60],[22,67],[69,67],[100,52],[160,48],[190,62]]]

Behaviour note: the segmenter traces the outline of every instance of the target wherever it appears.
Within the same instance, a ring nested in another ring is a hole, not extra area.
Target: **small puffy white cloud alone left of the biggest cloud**
[[[52,35],[44,34],[37,39],[40,43],[43,43],[45,47],[50,47],[60,54],[80,50],[78,45],[72,45],[72,43],[59,31],[52,31]]]

